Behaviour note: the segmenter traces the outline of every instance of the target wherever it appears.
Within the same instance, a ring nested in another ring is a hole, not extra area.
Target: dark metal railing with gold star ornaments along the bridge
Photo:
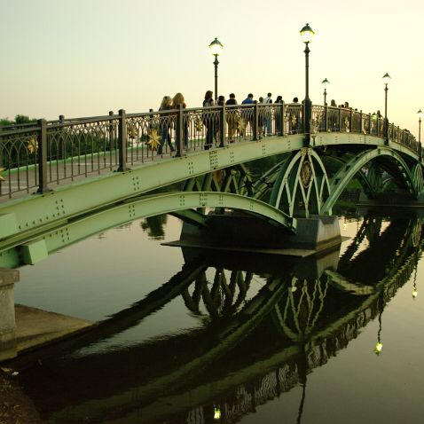
[[[0,198],[48,190],[61,181],[125,170],[145,161],[262,137],[304,132],[302,104],[180,107],[143,114],[30,122],[0,127]],[[312,106],[312,133],[336,131],[384,137],[384,120],[350,108]],[[407,130],[389,125],[389,140],[420,154]],[[2,180],[2,178],[4,181]]]

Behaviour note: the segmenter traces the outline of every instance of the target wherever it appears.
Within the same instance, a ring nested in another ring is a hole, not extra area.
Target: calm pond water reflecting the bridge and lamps
[[[105,324],[12,366],[46,423],[421,423],[423,222],[342,217],[304,260],[162,246],[171,216],[110,230],[15,287]]]

